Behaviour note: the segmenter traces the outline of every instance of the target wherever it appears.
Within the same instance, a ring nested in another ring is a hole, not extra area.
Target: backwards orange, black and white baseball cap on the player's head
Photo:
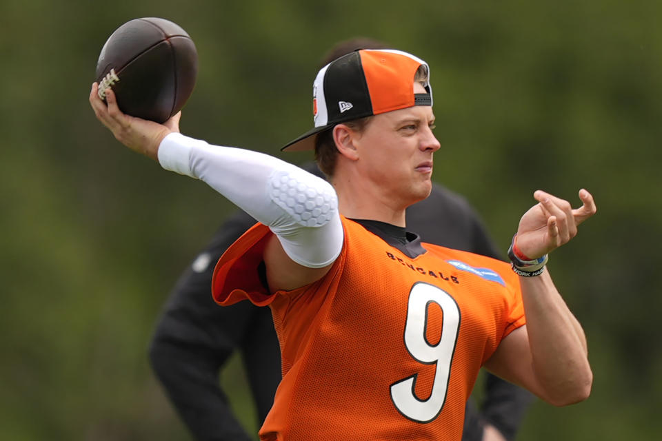
[[[414,75],[423,65],[426,93],[414,94]],[[432,105],[430,67],[399,50],[357,50],[325,65],[312,87],[314,129],[281,150],[314,150],[317,134],[338,123],[379,115],[414,105]]]

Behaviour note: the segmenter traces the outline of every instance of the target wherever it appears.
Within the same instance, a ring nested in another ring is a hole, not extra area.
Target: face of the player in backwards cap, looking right
[[[415,83],[414,93],[425,89]],[[357,139],[361,172],[404,205],[428,197],[432,154],[440,147],[433,128],[434,114],[428,105],[374,116]]]

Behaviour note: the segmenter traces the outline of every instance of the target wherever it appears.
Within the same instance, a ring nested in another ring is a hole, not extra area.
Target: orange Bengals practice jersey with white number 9
[[[343,218],[326,276],[269,294],[255,225],[214,271],[221,305],[270,305],[283,380],[261,440],[460,440],[481,365],[524,325],[519,279],[499,260],[423,244],[408,258]]]

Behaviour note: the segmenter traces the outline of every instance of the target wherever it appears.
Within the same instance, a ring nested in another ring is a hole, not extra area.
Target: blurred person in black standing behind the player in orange
[[[341,41],[321,66],[358,49],[380,49],[381,41]],[[321,67],[320,66],[320,67]],[[323,176],[314,163],[305,170]],[[244,212],[232,214],[177,281],[150,345],[152,368],[168,398],[199,441],[254,439],[246,433],[219,384],[219,374],[235,351],[241,354],[260,425],[281,380],[279,343],[270,309],[239,302],[219,307],[211,296],[215,263],[234,240],[254,225]],[[479,216],[465,198],[435,183],[430,196],[408,208],[408,229],[428,243],[501,259]],[[514,440],[528,391],[485,372],[483,402],[469,400],[463,441]]]

